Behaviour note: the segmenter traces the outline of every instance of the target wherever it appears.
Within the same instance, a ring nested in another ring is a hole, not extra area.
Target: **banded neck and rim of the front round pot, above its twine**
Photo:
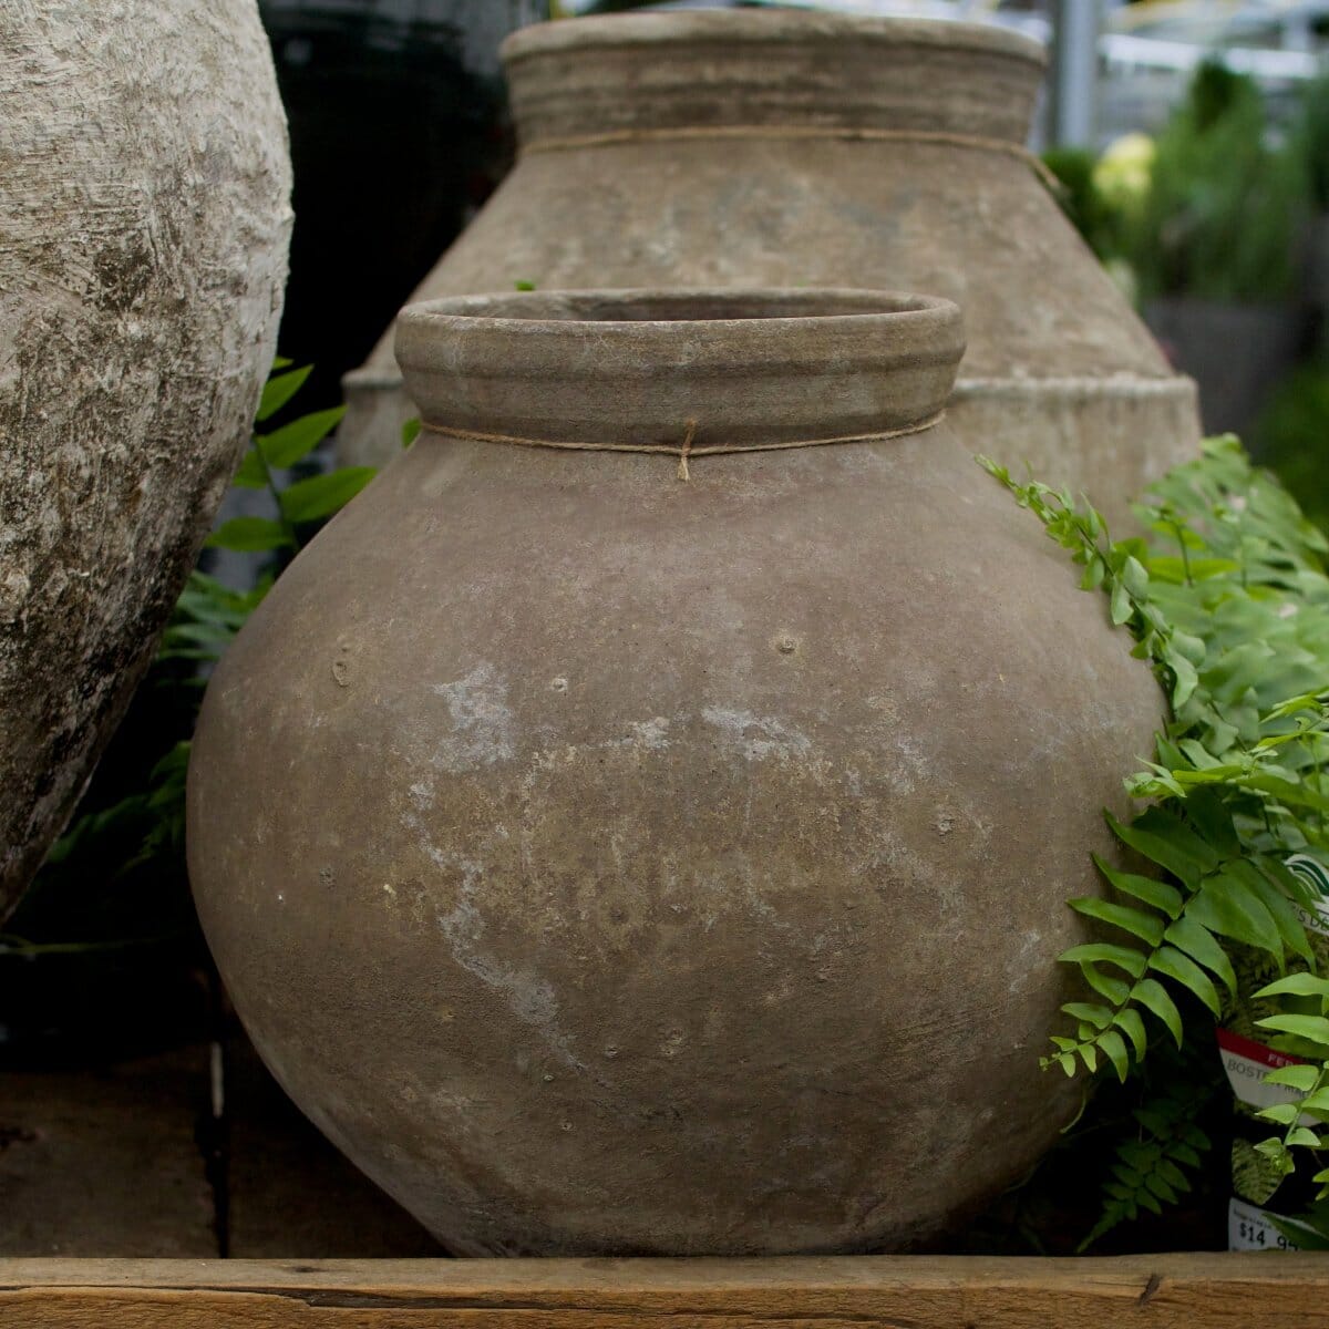
[[[411,306],[396,351],[437,432],[703,453],[916,432],[964,334],[896,292],[537,292]]]

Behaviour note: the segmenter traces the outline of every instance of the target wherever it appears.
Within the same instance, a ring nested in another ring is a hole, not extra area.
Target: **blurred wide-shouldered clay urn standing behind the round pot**
[[[1177,377],[1023,153],[1042,48],[962,23],[618,15],[504,45],[521,158],[416,299],[859,286],[965,310],[952,425],[1110,509],[1199,439]],[[346,380],[347,460],[416,413],[391,335]]]

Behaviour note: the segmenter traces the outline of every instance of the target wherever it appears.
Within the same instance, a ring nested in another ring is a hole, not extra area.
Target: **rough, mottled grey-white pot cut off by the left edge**
[[[272,359],[253,0],[0,3],[0,917],[152,657]]]

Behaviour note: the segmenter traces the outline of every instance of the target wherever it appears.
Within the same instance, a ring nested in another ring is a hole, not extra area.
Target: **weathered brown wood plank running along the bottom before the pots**
[[[0,1260],[19,1329],[1325,1329],[1329,1255]]]

